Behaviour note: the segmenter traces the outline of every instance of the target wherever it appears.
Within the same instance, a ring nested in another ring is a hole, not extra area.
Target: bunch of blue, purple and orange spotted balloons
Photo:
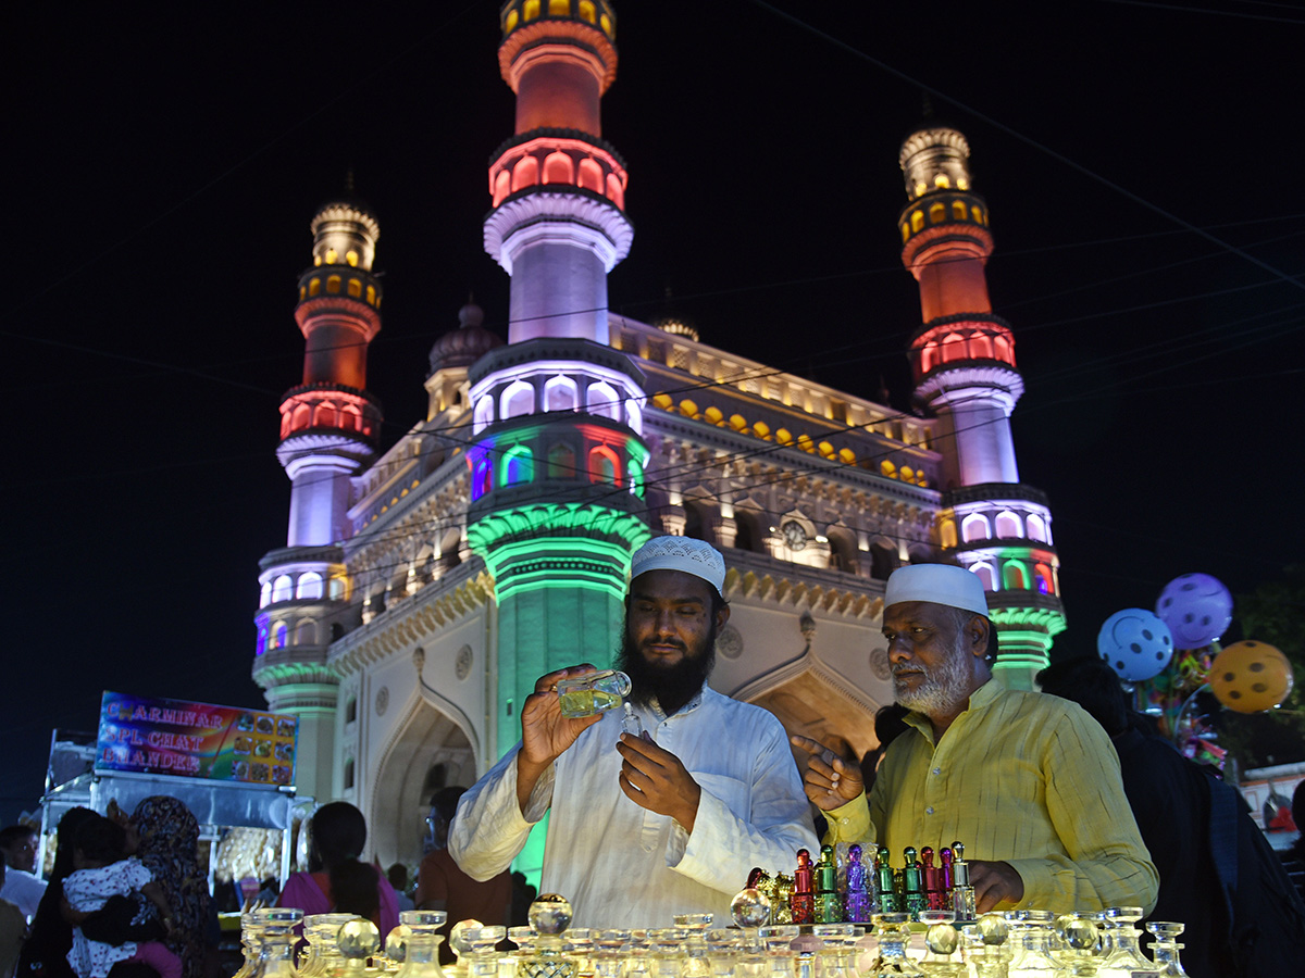
[[[1232,595],[1208,574],[1184,574],[1160,592],[1155,613],[1116,612],[1096,636],[1096,649],[1121,679],[1134,683],[1138,705],[1159,713],[1165,733],[1191,751],[1205,742],[1184,712],[1208,689],[1238,713],[1272,709],[1292,691],[1292,668],[1263,642],[1220,648],[1232,622]]]

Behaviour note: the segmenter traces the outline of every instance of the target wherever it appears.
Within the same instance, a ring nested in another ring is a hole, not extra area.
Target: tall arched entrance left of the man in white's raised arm
[[[368,812],[368,841],[381,866],[422,861],[431,795],[471,786],[476,758],[466,732],[448,713],[418,699],[381,760]]]

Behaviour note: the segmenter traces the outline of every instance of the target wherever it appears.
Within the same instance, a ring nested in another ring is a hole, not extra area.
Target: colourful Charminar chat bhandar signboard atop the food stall
[[[291,785],[298,729],[286,713],[106,691],[95,769]]]

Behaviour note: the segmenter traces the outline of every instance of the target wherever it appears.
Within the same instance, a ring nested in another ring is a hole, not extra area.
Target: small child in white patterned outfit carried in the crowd
[[[158,908],[164,930],[170,930],[172,917],[162,889],[141,861],[128,858],[127,852],[127,832],[121,825],[98,815],[89,819],[77,831],[73,855],[77,871],[64,880],[64,896],[77,915],[85,915],[102,909],[110,897],[132,897],[134,891],[140,891]],[[73,928],[68,964],[77,978],[106,978],[119,961],[145,964],[158,971],[161,978],[181,977],[181,958],[162,941],[128,940],[114,945],[90,940],[82,934],[81,926]]]

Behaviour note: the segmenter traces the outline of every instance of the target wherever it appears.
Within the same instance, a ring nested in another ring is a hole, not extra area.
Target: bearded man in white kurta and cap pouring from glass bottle
[[[706,685],[729,618],[724,558],[655,537],[630,572],[617,668],[643,735],[622,733],[621,711],[561,715],[557,682],[592,665],[540,677],[522,742],[462,797],[449,852],[488,879],[551,808],[540,891],[572,901],[574,926],[669,926],[676,913],[726,923],[754,866],[786,868],[816,848],[809,807],[779,721]]]

